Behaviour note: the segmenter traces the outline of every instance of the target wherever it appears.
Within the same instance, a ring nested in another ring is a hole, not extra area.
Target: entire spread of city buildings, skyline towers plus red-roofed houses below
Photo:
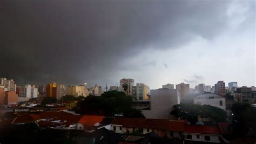
[[[92,133],[106,129],[107,133],[124,135],[125,140],[129,136],[133,136],[131,132],[139,132],[144,135],[136,137],[141,141],[145,140],[145,135],[154,133],[159,139],[222,143],[225,141],[222,135],[227,129],[226,123],[207,126],[204,125],[204,122],[207,124],[210,120],[198,118],[197,122],[199,123],[191,125],[188,121],[170,114],[174,109],[173,106],[181,103],[210,105],[220,108],[220,111],[221,109],[226,111],[227,116],[230,116],[232,104],[242,102],[255,105],[256,103],[256,87],[239,87],[237,82],[230,82],[228,86],[223,80],[217,81],[214,86],[198,84],[191,88],[190,84],[185,83],[175,86],[174,84],[165,84],[157,90],[150,90],[148,85],[134,83],[134,79],[131,78],[120,79],[119,86],[110,86],[109,88],[107,85],[103,88],[97,84],[89,88],[86,88],[86,84],[66,87],[55,82],[46,86],[29,84],[16,86],[14,80],[1,78],[0,105],[14,107],[14,110],[11,109],[11,111],[15,111],[16,114],[14,117],[4,118],[2,121],[12,125],[36,123],[40,128],[47,127],[63,131],[73,129]],[[145,118],[124,118],[122,114],[111,119],[105,116],[79,115],[68,111],[77,106],[77,101],[60,102],[65,95],[100,97],[107,91],[120,91],[130,95],[133,99],[132,107],[139,109]],[[47,110],[43,107],[35,107],[40,105],[42,98],[45,97],[56,98],[58,104],[46,105],[50,107]],[[18,106],[23,108],[15,109]],[[19,114],[18,111],[26,113]]]

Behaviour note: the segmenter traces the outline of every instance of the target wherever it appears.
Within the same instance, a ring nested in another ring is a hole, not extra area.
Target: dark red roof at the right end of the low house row
[[[218,127],[202,125],[185,125],[184,132],[201,134],[221,134],[221,131]]]

